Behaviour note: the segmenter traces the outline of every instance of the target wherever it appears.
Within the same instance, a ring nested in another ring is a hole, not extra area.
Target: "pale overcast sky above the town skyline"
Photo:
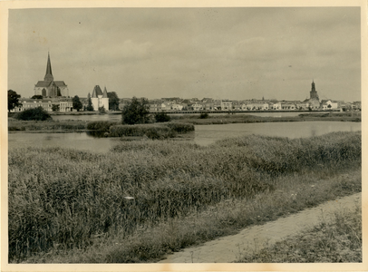
[[[9,11],[8,89],[44,80],[71,96],[361,100],[359,7]]]

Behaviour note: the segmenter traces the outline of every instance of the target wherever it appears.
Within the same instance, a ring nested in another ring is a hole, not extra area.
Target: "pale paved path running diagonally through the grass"
[[[161,260],[160,263],[230,263],[238,260],[242,252],[257,250],[275,244],[290,235],[312,228],[324,220],[328,222],[338,210],[354,209],[362,205],[362,193],[357,193],[315,208],[305,209],[286,218],[270,221],[265,225],[241,230],[237,235],[218,238],[207,243],[185,248]]]

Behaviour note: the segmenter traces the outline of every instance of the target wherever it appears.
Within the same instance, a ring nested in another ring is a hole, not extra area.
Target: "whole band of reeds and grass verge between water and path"
[[[360,190],[359,132],[13,150],[9,261],[153,262]]]

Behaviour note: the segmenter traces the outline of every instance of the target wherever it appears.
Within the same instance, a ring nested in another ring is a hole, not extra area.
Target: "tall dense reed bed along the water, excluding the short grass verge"
[[[8,162],[9,261],[20,262],[50,250],[84,250],[118,233],[129,238],[142,227],[199,214],[228,199],[253,199],[281,188],[278,179],[286,175],[359,168],[361,134],[249,136],[208,147],[123,141],[108,154],[28,148],[9,151]],[[360,189],[346,186],[349,192]],[[304,205],[316,202],[306,199]],[[165,243],[156,245],[161,254]]]

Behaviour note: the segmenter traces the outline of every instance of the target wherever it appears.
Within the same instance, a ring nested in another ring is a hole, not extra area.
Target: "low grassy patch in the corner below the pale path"
[[[244,251],[242,263],[358,263],[362,262],[362,208],[339,211],[304,233],[277,242],[257,253]]]

